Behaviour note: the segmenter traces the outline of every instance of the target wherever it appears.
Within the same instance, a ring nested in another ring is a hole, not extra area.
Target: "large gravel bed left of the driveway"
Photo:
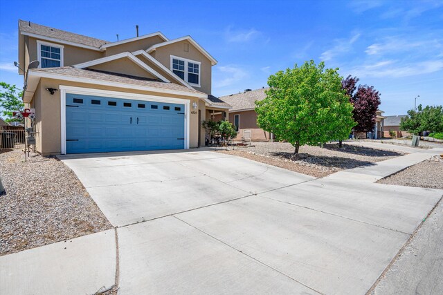
[[[0,256],[112,228],[56,158],[0,150],[0,178]]]

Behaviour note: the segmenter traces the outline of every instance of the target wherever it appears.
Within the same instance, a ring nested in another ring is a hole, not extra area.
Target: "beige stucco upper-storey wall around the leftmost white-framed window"
[[[48,42],[42,40],[44,42]],[[57,42],[48,42],[57,44]],[[66,44],[59,44],[64,46],[63,48],[63,66],[73,66],[74,64],[81,64],[86,61],[91,61],[93,59],[99,59],[105,55],[96,50],[80,48],[75,46],[70,46]],[[37,60],[37,39],[34,37],[29,37],[27,42],[27,48],[29,52],[30,61]],[[27,66],[27,64],[26,64]]]

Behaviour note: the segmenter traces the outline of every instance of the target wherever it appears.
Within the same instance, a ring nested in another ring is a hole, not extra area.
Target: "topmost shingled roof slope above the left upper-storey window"
[[[65,30],[58,30],[37,23],[31,23],[30,21],[23,21],[21,19],[19,20],[19,32],[21,35],[28,35],[30,37],[37,37],[73,46],[78,46],[78,44],[80,44],[83,45],[83,47],[95,50],[99,50],[100,46],[110,43],[102,39],[87,37],[73,32],[66,32]]]

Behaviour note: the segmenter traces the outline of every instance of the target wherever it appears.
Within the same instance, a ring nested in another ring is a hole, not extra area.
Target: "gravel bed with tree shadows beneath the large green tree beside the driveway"
[[[345,143],[342,148],[336,143],[324,144],[323,148],[300,146],[297,155],[294,155],[293,151],[293,146],[287,142],[253,142],[252,146],[235,146],[229,147],[228,150],[218,150],[219,153],[238,155],[318,178],[344,169],[368,166],[374,162],[405,155],[396,151],[351,146]]]

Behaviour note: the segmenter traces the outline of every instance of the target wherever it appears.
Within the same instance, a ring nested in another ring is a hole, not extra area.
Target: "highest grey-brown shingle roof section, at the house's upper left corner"
[[[42,35],[46,37],[51,37],[55,39],[60,39],[64,41],[74,42],[78,44],[83,44],[87,46],[92,46],[96,48],[100,48],[100,46],[104,44],[108,44],[111,42],[87,37],[84,35],[74,34],[73,32],[66,32],[64,30],[58,30],[56,28],[51,28],[47,26],[42,26],[37,23],[31,23],[30,21],[22,21],[19,20],[19,30],[20,32],[28,32],[31,34]]]

